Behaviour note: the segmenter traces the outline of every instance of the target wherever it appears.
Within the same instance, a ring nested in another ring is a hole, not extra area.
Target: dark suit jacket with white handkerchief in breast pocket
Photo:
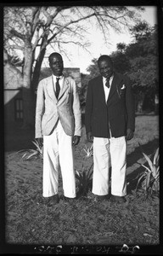
[[[135,106],[130,80],[114,73],[110,95],[105,102],[103,77],[89,81],[85,112],[86,132],[93,137],[126,136],[126,129],[135,129]],[[110,125],[110,129],[109,129]]]

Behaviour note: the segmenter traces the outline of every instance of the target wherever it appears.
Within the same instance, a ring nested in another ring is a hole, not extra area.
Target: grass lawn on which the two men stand
[[[8,135],[6,143],[9,145]],[[33,138],[32,138],[33,139]],[[16,137],[12,137],[13,143]],[[25,140],[25,137],[24,137]],[[11,141],[11,140],[10,140]],[[29,143],[29,142],[28,142]],[[5,152],[5,239],[13,245],[67,246],[149,246],[160,243],[160,198],[145,199],[135,194],[138,175],[146,164],[139,148],[151,155],[159,147],[158,116],[138,116],[134,138],[127,148],[126,203],[98,202],[91,191],[76,201],[48,207],[42,203],[42,160],[23,160],[16,150]],[[20,143],[17,141],[17,144]],[[16,143],[15,143],[16,145]],[[15,146],[14,145],[14,146]],[[25,145],[25,144],[24,144]],[[86,158],[85,129],[75,151],[75,168],[88,168],[93,157]],[[20,149],[20,148],[19,148]],[[28,149],[28,148],[26,148]],[[78,182],[76,180],[76,189]],[[59,176],[59,195],[63,195]]]

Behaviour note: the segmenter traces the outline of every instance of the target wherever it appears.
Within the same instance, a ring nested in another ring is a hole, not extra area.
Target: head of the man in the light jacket
[[[64,70],[64,62],[62,56],[58,52],[53,52],[48,57],[49,66],[55,76],[59,77],[62,75]]]

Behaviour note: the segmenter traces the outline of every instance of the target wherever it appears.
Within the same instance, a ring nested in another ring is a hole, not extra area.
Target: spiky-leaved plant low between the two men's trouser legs
[[[76,171],[76,178],[79,181],[79,184],[78,184],[79,191],[78,191],[78,193],[80,195],[87,195],[87,192],[92,187],[92,183],[93,183],[93,170],[91,170],[92,166],[93,166],[93,163],[87,169],[86,167],[84,167],[82,165],[82,172]]]

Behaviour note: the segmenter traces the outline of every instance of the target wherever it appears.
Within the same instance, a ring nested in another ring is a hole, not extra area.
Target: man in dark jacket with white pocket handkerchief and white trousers
[[[135,130],[135,107],[130,80],[115,73],[109,55],[98,58],[100,76],[89,81],[85,125],[93,143],[93,194],[111,201],[126,201],[126,140]]]

